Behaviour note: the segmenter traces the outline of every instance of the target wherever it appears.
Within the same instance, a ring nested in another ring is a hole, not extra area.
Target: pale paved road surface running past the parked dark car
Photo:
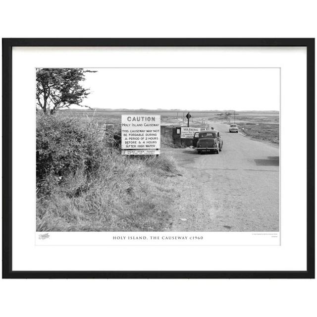
[[[181,166],[172,231],[278,231],[279,149],[212,123],[223,150],[163,149]],[[186,219],[186,220],[181,220]]]

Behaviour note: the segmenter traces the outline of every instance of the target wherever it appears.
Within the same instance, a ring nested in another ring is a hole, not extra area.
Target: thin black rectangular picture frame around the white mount
[[[307,269],[305,271],[13,271],[13,47],[306,47]],[[315,278],[315,39],[312,38],[13,38],[2,39],[2,278]]]

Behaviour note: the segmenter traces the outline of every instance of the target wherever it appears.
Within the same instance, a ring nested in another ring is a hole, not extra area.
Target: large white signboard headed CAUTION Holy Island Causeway
[[[160,115],[122,114],[123,155],[160,154]]]

